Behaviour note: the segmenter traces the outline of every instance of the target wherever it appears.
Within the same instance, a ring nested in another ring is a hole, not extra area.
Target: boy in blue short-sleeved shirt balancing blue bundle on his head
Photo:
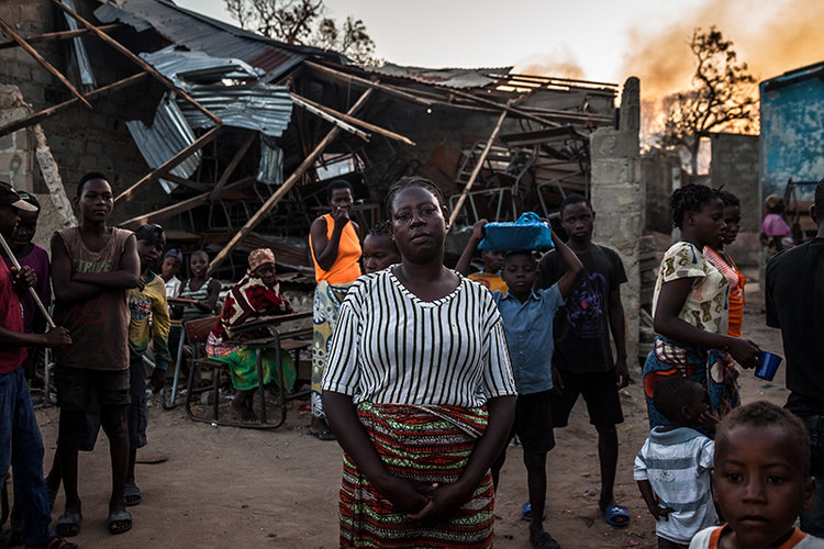
[[[505,257],[501,271],[509,292],[505,295],[500,291],[492,292],[492,299],[503,318],[512,371],[517,386],[515,423],[510,440],[517,435],[524,448],[532,509],[530,541],[539,549],[560,547],[547,531],[544,531],[542,524],[546,503],[546,455],[555,446],[550,413],[553,318],[575,288],[583,269],[578,257],[566,244],[555,235],[553,242],[567,266],[567,272],[558,282],[545,290],[535,290],[537,261],[532,251],[516,251]],[[492,464],[492,480],[495,486],[505,459],[504,447]]]

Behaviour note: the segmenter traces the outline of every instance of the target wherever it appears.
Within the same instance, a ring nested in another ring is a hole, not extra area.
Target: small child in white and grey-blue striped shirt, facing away
[[[714,418],[703,386],[689,378],[665,378],[653,399],[669,425],[649,432],[635,458],[634,477],[657,523],[658,547],[686,549],[692,536],[717,523],[710,492],[714,445],[693,428]]]

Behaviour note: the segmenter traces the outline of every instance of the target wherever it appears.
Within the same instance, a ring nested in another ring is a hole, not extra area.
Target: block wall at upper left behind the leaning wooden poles
[[[92,22],[91,14],[99,5],[89,0],[76,0],[78,11]],[[49,0],[3,0],[0,19],[22,36],[33,36],[60,30],[57,8]],[[118,38],[130,38],[132,31],[113,32]],[[98,86],[114,82],[136,72],[135,67],[111,46],[98,38],[83,38]],[[79,88],[80,82],[69,66],[66,55],[68,42],[34,44],[33,47]],[[0,85],[14,85],[34,111],[53,107],[73,98],[63,85],[23,49],[0,51]],[[132,142],[125,121],[148,117],[151,123],[160,89],[148,79],[136,87],[94,101],[93,111],[75,105],[42,122],[66,192],[74,198],[76,182],[83,173],[102,171],[110,177],[115,193],[125,189],[148,171],[140,152]],[[19,117],[19,114],[13,114]],[[0,177],[9,177],[21,189],[46,198],[47,189],[31,156],[31,131],[22,130],[0,141],[0,149],[13,148],[18,153],[0,153]],[[18,183],[20,181],[20,183]],[[115,210],[115,220],[166,204],[167,198],[159,186],[142,193],[137,199]],[[40,233],[40,231],[38,231]]]

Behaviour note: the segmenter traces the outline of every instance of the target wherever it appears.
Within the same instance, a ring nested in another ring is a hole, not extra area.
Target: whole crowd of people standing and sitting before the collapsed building
[[[327,202],[330,213],[309,235],[316,281],[309,432],[344,450],[341,546],[490,547],[495,491],[516,438],[528,540],[560,547],[545,527],[547,456],[579,397],[597,435],[598,506],[609,525],[627,526],[630,509],[614,493],[619,392],[631,381],[621,299],[627,277],[619,254],[592,242],[587,198],[560,204],[566,239],[553,232],[554,249],[485,250],[478,272],[471,261],[486,220],[447,268],[446,201],[426,179],[394,183],[387,220],[365,233],[352,220],[349,183],[329,184]],[[0,183],[0,235],[10,245],[0,261],[0,471],[3,480],[13,473],[18,541],[49,549],[77,547],[65,538],[82,524],[78,451],[93,449],[100,427],[111,449],[109,531],[132,528],[126,507],[142,500],[135,461],[147,440],[147,386],[165,386],[181,337],[172,318],[213,318],[205,351],[225,362],[231,410],[242,422],[256,418],[259,381],[280,382],[276,363],[285,390],[298,378],[289,354],[267,349],[259,380],[256,354],[236,332],[292,312],[271,250],[253,250],[221,301],[205,251],[192,253],[189,277],[178,278],[185,257],[166,249],[163,227],[109,225],[104,175],[85,176],[75,203],[80,223],[54,234],[49,259],[32,243],[36,199]],[[819,233],[803,245],[784,229],[782,202],[766,203],[767,324],[783,337],[786,408],[742,405],[739,395],[741,369],[756,368],[761,354],[742,337],[746,278],[727,249],[741,202],[688,184],[670,206],[679,238],[658,270],[657,337],[642,370],[650,432],[632,450],[658,547],[824,547],[824,180],[811,208]],[[54,302],[53,322],[37,301]],[[46,347],[60,412],[44,478],[29,384],[37,383]],[[65,508],[53,531],[60,486]]]

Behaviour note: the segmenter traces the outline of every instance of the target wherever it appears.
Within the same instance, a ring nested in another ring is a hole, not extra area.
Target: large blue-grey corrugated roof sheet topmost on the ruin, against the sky
[[[169,42],[194,52],[234,57],[253,66],[260,63],[267,81],[315,53],[313,48],[285,45],[165,0],[120,0],[116,5],[101,5],[94,15],[103,23],[120,21],[137,31],[154,29]]]

